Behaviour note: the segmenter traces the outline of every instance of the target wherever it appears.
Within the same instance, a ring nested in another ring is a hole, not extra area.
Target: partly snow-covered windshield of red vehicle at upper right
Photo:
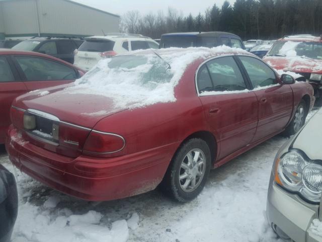
[[[276,41],[268,55],[303,56],[322,59],[322,42]]]

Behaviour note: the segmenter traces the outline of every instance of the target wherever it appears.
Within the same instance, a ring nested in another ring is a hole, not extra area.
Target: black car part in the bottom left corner
[[[0,164],[0,242],[9,242],[17,219],[18,194],[16,180]]]

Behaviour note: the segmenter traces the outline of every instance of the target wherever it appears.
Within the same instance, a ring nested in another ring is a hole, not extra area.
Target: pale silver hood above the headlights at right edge
[[[322,159],[322,150],[320,148],[322,137],[320,132],[321,123],[322,109],[319,109],[301,130],[293,143],[293,148],[302,150],[311,160]]]

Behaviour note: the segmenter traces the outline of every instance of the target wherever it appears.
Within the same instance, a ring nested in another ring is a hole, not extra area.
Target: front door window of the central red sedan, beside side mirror
[[[254,88],[277,84],[274,71],[259,59],[248,56],[239,56],[239,59],[243,63]]]

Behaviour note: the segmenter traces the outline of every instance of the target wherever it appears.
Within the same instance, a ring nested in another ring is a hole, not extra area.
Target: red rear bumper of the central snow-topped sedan
[[[6,148],[20,170],[62,193],[107,201],[141,194],[162,180],[177,144],[112,158],[70,158],[25,142],[12,126]]]

